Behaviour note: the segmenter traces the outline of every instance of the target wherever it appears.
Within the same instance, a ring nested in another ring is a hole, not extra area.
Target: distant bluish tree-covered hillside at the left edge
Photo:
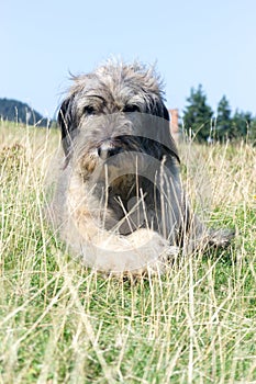
[[[48,126],[49,122],[30,105],[12,99],[0,99],[0,120],[34,126]]]

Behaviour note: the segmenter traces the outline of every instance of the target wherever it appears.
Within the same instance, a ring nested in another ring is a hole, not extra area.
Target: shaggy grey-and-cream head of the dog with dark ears
[[[67,161],[86,155],[87,171],[98,159],[123,151],[178,159],[159,78],[152,68],[109,61],[94,72],[74,77],[58,123]]]

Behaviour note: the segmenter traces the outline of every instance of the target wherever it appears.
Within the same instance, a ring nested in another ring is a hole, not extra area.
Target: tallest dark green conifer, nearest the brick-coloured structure
[[[213,111],[207,103],[207,95],[199,84],[198,89],[191,89],[190,97],[187,99],[188,105],[183,111],[185,129],[192,129],[198,142],[205,142],[211,136],[211,118]]]

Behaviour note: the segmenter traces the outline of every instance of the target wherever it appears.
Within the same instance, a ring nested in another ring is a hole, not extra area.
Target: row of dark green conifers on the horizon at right
[[[182,120],[186,135],[199,143],[241,138],[256,143],[256,117],[251,112],[236,110],[232,113],[225,95],[220,100],[214,115],[201,84],[198,89],[191,89]]]

